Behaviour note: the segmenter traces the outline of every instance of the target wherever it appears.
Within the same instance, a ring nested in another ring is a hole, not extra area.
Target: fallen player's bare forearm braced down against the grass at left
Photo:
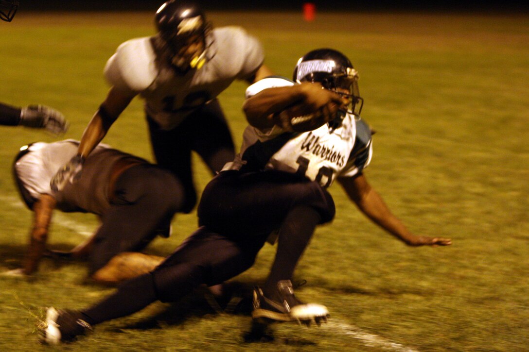
[[[23,265],[23,271],[26,275],[37,271],[39,262],[45,251],[46,241],[48,239],[48,228],[55,205],[55,198],[49,194],[41,194],[40,199],[33,205],[33,228]]]

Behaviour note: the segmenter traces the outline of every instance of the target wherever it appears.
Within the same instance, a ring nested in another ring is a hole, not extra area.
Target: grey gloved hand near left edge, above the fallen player
[[[29,105],[22,108],[20,124],[32,128],[45,128],[58,135],[68,131],[68,122],[56,109],[45,105]]]

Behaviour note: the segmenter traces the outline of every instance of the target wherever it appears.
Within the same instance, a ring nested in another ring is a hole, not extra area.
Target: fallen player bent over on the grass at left
[[[130,279],[149,272],[163,259],[128,252],[141,251],[157,235],[169,236],[169,228],[162,226],[183,205],[176,191],[181,187],[178,180],[141,158],[99,145],[87,158],[78,182],[52,192],[51,177],[78,146],[74,140],[38,142],[22,147],[16,156],[15,181],[34,220],[23,268],[10,274],[29,275],[37,270],[55,208],[91,212],[101,219],[88,242],[72,252],[88,256],[89,275],[96,281]],[[123,252],[127,253],[118,255]]]

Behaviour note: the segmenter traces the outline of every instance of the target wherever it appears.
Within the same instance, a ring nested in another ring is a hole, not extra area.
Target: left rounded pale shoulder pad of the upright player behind
[[[107,61],[105,77],[111,85],[136,94],[147,89],[158,75],[150,37],[121,44]]]

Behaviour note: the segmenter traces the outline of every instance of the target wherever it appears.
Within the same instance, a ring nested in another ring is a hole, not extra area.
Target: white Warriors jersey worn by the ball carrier
[[[248,87],[247,98],[266,88],[291,85],[294,82],[286,78],[265,78]],[[278,126],[248,126],[241,152],[223,170],[282,170],[303,174],[329,187],[336,177],[358,175],[369,165],[371,155],[369,126],[347,114],[337,128],[325,124],[303,133],[286,132]]]

